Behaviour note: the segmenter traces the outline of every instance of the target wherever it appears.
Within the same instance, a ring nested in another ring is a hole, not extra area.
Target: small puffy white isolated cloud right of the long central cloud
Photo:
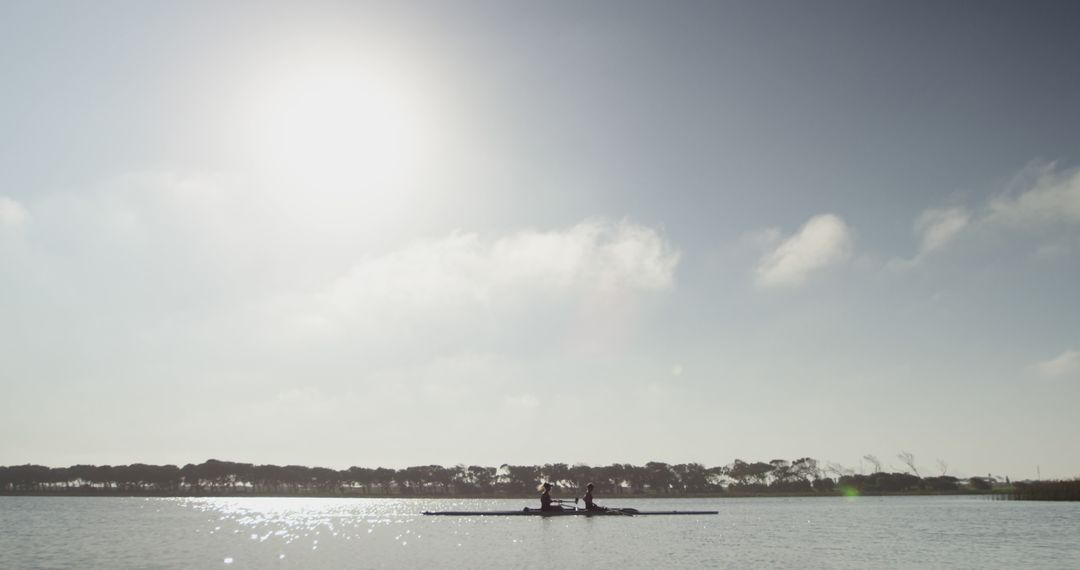
[[[814,216],[798,233],[761,258],[755,271],[757,283],[762,286],[801,285],[811,273],[850,259],[852,248],[851,229],[839,216]]]

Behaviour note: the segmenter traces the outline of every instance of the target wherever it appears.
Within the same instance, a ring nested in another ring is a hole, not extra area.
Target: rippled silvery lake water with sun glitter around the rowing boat
[[[1080,568],[1080,503],[607,501],[673,517],[427,517],[526,501],[0,498],[0,568]]]

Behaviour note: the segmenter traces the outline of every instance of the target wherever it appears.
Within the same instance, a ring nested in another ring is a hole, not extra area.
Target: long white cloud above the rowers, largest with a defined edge
[[[673,286],[678,260],[657,230],[627,221],[496,239],[455,233],[364,259],[274,310],[293,323],[287,330],[368,338],[492,334],[503,321],[567,312],[622,322],[639,294]]]

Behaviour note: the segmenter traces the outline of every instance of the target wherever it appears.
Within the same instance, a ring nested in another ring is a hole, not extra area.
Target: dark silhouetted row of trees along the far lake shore
[[[651,461],[645,465],[613,463],[606,466],[549,463],[333,470],[214,459],[183,467],[144,463],[0,466],[2,493],[523,497],[535,494],[541,481],[551,481],[564,493],[577,493],[586,483],[593,483],[596,493],[607,497],[862,494],[989,488],[988,481],[978,477],[961,480],[947,475],[920,477],[883,471],[861,475],[836,464],[823,467],[811,458],[769,462],[735,460],[716,467]]]

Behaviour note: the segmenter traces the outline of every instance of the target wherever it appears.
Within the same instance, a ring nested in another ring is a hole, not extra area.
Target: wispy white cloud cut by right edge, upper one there
[[[1055,164],[1034,164],[1022,173],[1020,193],[991,200],[986,220],[1012,227],[1080,222],[1080,168],[1057,172]]]

